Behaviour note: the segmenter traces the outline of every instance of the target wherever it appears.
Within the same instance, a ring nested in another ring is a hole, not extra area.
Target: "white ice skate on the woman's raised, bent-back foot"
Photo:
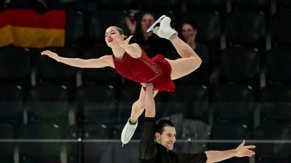
[[[157,23],[160,23],[160,26],[153,28]],[[161,38],[170,39],[170,36],[178,35],[178,32],[171,28],[170,23],[171,18],[163,15],[147,30],[147,32],[153,31],[153,33]]]

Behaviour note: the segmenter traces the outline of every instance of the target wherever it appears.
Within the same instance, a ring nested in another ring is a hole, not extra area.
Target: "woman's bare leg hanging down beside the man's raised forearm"
[[[158,91],[153,91],[153,97],[156,96]],[[146,100],[146,92],[141,89],[141,93],[139,94],[138,101],[134,102],[131,108],[131,115],[130,115],[130,123],[135,124],[138,120],[138,117],[142,115],[143,110],[145,109],[145,100]]]

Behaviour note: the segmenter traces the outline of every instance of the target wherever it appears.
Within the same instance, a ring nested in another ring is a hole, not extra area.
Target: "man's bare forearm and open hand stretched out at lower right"
[[[255,152],[249,150],[250,148],[255,148],[255,146],[244,146],[245,141],[241,143],[236,149],[225,150],[225,151],[216,151],[210,150],[206,151],[207,163],[219,162],[222,160],[229,159],[231,157],[251,157]]]

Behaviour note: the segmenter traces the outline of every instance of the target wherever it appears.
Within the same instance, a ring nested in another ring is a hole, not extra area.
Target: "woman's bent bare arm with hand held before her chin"
[[[142,56],[142,50],[138,44],[132,43],[128,44],[129,40],[133,37],[133,35],[129,36],[126,40],[121,40],[117,38],[119,45],[125,49],[125,51],[133,58],[139,58]]]

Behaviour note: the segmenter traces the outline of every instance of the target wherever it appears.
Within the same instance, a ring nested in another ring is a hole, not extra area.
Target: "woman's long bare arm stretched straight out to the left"
[[[58,62],[65,63],[70,66],[80,68],[102,68],[110,66],[114,68],[114,63],[111,55],[105,55],[97,59],[80,59],[80,58],[64,58],[49,50],[41,52],[41,55],[47,55]]]

